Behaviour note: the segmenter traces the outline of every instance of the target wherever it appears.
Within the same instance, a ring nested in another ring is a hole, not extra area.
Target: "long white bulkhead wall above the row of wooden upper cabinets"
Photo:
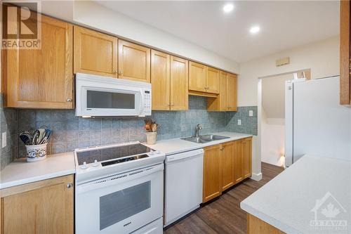
[[[73,21],[223,70],[239,73],[238,63],[232,60],[91,1],[74,2]]]

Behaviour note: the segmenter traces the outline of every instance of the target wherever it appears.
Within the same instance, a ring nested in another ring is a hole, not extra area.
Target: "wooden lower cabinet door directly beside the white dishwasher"
[[[202,202],[222,194],[221,145],[204,148],[204,182]]]

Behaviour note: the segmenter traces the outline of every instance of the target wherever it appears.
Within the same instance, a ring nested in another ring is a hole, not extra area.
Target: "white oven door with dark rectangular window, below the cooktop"
[[[159,164],[76,186],[76,233],[131,233],[162,216]]]

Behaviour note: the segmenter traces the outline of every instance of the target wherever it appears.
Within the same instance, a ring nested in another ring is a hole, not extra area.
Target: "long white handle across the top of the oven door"
[[[154,174],[157,171],[163,171],[163,169],[164,164],[159,164],[153,167],[146,167],[143,169],[137,169],[135,171],[128,171],[126,173],[109,176],[107,178],[100,178],[98,180],[83,183],[81,185],[76,186],[76,193],[86,193],[88,191],[95,190],[98,188],[115,186],[119,183],[124,183],[126,181],[131,181],[137,178],[145,177],[150,174]]]

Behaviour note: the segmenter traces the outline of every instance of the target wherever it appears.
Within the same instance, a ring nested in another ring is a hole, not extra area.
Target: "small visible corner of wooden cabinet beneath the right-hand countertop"
[[[247,214],[247,233],[248,234],[284,234],[282,230],[274,228],[274,226],[258,219],[252,214]]]

